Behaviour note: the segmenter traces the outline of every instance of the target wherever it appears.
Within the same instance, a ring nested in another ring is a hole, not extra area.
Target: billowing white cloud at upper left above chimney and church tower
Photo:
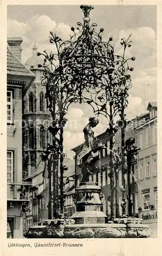
[[[50,31],[56,33],[62,40],[69,39],[70,34],[73,34],[70,26],[64,23],[57,24],[47,15],[34,15],[26,23],[8,19],[8,36],[21,36],[23,39],[21,59],[24,63],[32,55],[34,41],[37,42],[38,51],[56,52],[56,47],[49,42]]]

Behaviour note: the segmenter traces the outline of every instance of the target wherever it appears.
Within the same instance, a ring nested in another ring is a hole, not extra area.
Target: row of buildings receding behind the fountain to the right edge
[[[131,201],[133,216],[146,220],[155,219],[157,222],[157,103],[150,102],[147,113],[137,116],[128,122],[125,130],[125,141],[135,138],[135,145],[140,148],[138,155],[132,161],[130,173]],[[103,133],[97,137],[106,149],[101,152],[101,159],[96,161],[98,170],[89,175],[89,181],[95,181],[101,186],[104,194],[103,211],[110,215],[110,178],[109,178],[109,136]],[[121,131],[114,135],[114,148],[121,147]],[[75,147],[76,153],[76,181],[78,187],[81,181],[81,163],[78,163],[78,154],[81,145]],[[122,171],[118,169],[118,204],[119,216],[122,216]],[[125,174],[126,191],[128,193],[128,180]],[[127,208],[126,208],[127,214]]]

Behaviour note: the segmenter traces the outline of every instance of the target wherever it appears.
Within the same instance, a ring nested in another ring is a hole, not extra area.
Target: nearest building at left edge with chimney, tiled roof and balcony
[[[22,99],[35,76],[21,63],[21,42],[14,37],[7,44],[7,238],[23,237],[31,187],[22,175]]]

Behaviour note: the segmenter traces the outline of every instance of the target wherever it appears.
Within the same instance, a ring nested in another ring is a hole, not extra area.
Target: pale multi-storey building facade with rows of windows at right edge
[[[157,222],[157,102],[149,102],[145,123],[136,129],[138,193],[135,195],[140,217]]]

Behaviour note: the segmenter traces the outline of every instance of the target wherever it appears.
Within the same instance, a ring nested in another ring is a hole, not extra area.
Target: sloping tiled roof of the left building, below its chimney
[[[7,74],[34,77],[34,74],[12,53],[7,44]]]

